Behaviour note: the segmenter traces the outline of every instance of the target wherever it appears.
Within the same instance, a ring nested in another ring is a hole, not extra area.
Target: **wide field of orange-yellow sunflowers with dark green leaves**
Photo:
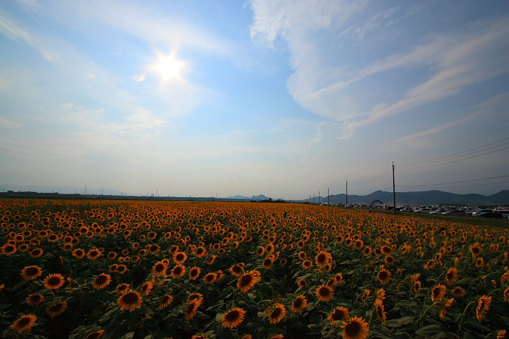
[[[3,338],[509,338],[507,230],[290,203],[0,200]]]

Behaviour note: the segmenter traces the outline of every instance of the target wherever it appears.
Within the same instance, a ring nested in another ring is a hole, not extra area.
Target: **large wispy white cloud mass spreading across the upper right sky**
[[[363,38],[372,30],[381,30],[389,23],[394,25],[421,10],[411,8],[394,18],[400,8],[389,8],[365,20],[360,17],[369,12],[366,4],[367,1],[252,1],[252,39],[259,41],[263,37],[274,46],[277,38],[282,38],[293,69],[288,78],[288,92],[302,107],[320,117],[347,121],[344,138],[349,138],[361,126],[450,97],[468,85],[509,72],[509,51],[505,43],[509,41],[508,16],[475,23],[463,34],[423,37],[411,52],[378,61],[361,55],[361,59],[370,60],[366,66],[359,67],[361,62],[345,62],[340,56],[346,53],[341,46],[347,33]],[[349,52],[355,55],[356,49],[349,46]],[[354,99],[352,95],[353,83],[390,69],[419,67],[426,68],[430,76],[406,92],[394,93],[392,97],[397,100],[381,97],[371,108],[361,109],[362,96]]]

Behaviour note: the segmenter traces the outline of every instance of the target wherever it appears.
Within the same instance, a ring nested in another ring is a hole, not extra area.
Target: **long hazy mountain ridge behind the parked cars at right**
[[[349,194],[350,203],[372,203],[375,200],[392,205],[392,192],[375,191],[367,196]],[[327,203],[327,197],[320,201]],[[330,203],[346,203],[346,194],[329,196]],[[443,191],[396,192],[397,205],[440,205],[464,204],[470,206],[509,205],[509,190],[500,191],[491,196],[481,194],[454,194]]]

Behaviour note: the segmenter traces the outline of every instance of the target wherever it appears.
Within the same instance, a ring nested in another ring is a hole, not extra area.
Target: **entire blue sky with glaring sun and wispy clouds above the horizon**
[[[508,1],[2,1],[0,33],[0,184],[509,189]]]

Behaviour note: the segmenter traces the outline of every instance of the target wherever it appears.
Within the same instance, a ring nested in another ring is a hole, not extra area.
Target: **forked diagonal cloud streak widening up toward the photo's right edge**
[[[406,112],[411,108],[459,93],[464,87],[509,73],[509,18],[506,16],[488,25],[481,32],[462,37],[438,37],[426,47],[411,54],[392,58],[390,62],[373,67],[375,71],[387,67],[422,64],[433,59],[435,73],[428,81],[411,88],[404,98],[394,103],[383,102],[362,115],[366,119],[350,123],[345,137],[360,126]]]

